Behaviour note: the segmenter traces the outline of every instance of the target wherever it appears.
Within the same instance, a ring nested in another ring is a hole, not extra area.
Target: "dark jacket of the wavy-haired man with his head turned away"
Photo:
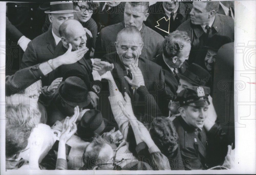
[[[170,88],[170,91],[168,92],[172,96],[172,100],[173,100],[177,95],[176,91],[178,90],[179,82],[175,78],[174,73],[170,70],[170,68],[164,62],[162,54],[158,55],[153,61],[158,65],[162,66],[164,78],[165,78],[165,84]],[[185,72],[187,67],[188,67],[188,63],[185,61],[178,69],[179,73]]]

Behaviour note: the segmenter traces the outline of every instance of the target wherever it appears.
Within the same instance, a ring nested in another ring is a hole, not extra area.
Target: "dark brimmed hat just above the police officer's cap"
[[[177,75],[180,79],[197,86],[204,86],[211,76],[207,70],[195,63],[190,64],[184,73]]]

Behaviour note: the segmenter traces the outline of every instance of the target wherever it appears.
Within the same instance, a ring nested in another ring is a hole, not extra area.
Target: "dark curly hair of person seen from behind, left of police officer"
[[[172,121],[166,117],[156,117],[146,126],[156,146],[161,152],[168,156],[178,148],[178,134]]]

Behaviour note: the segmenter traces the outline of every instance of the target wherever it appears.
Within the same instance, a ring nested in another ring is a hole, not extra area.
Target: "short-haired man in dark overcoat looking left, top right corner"
[[[226,36],[234,41],[234,20],[217,14],[219,2],[193,2],[190,19],[182,23],[177,30],[186,31],[191,39],[189,63],[198,59],[203,46],[216,35]],[[201,57],[205,57],[201,56]]]

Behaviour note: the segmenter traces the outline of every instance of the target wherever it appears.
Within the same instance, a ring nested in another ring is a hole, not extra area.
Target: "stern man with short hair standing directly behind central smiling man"
[[[141,57],[152,60],[159,53],[162,53],[164,38],[143,23],[149,15],[148,2],[126,2],[124,11],[123,22],[110,25],[101,30],[96,41],[94,57],[101,58],[107,53],[115,52],[114,43],[118,32],[125,27],[131,26],[136,27],[141,32],[144,42]]]

